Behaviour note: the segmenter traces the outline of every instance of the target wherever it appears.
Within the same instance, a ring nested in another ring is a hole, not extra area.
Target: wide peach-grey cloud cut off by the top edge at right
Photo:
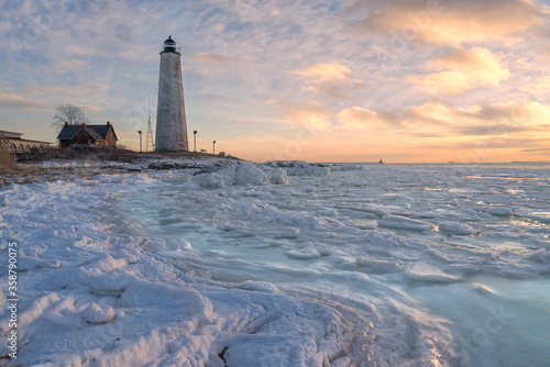
[[[382,36],[391,42],[429,42],[460,45],[504,41],[515,43],[544,23],[535,0],[355,0],[349,16],[364,37]]]

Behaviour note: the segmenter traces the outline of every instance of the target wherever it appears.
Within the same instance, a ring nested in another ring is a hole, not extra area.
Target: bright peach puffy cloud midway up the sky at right
[[[502,80],[508,79],[510,71],[488,49],[453,49],[440,55],[436,62],[428,63],[429,68],[447,69],[424,76],[410,76],[409,79],[430,94],[458,96],[480,87],[498,88]]]

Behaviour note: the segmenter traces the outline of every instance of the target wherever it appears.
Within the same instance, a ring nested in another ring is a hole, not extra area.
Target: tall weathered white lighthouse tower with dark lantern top
[[[168,36],[161,49],[155,152],[189,151],[180,56],[176,42]]]

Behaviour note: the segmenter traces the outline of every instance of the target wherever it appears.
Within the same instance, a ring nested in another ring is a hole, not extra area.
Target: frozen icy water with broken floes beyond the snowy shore
[[[284,168],[184,174],[125,205],[151,251],[199,277],[369,320],[351,360],[353,351],[381,365],[548,360],[548,169]]]

